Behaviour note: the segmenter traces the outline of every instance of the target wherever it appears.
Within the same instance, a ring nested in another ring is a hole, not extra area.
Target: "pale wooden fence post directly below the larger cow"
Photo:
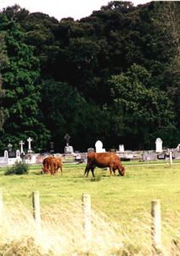
[[[87,241],[91,239],[91,195],[82,194],[83,229]]]

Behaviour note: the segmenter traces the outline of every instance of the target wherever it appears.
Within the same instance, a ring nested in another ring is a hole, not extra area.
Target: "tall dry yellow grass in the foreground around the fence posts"
[[[126,227],[102,212],[92,212],[92,236],[86,240],[81,201],[42,208],[42,229],[37,232],[32,212],[20,202],[5,206],[0,218],[0,255],[10,256],[149,256],[152,253],[149,213],[132,218]],[[180,215],[162,223],[163,255],[180,255]],[[173,226],[173,227],[172,227]],[[172,231],[169,232],[170,230]],[[175,236],[176,235],[176,236]]]

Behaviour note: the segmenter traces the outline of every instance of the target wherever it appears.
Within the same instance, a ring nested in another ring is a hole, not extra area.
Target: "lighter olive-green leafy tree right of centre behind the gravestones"
[[[150,87],[150,81],[151,74],[136,64],[110,79],[114,102],[122,109],[123,136],[137,148],[175,131],[173,103],[166,92]],[[171,143],[167,137],[166,143]]]

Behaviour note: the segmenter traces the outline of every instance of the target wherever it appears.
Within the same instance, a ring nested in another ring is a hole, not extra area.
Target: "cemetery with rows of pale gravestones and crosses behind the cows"
[[[79,152],[75,151],[73,146],[70,143],[70,136],[68,134],[65,135],[66,145],[65,152],[54,152],[53,143],[50,143],[50,152],[48,154],[53,154],[56,156],[61,156],[63,162],[65,163],[77,163],[77,162],[86,162],[87,154],[90,152],[107,152],[105,148],[103,148],[103,143],[98,140],[94,143],[94,148],[87,148],[87,152]],[[27,138],[28,147],[25,149],[25,143],[20,141],[20,148],[14,150],[12,144],[8,144],[7,149],[4,150],[3,156],[0,156],[0,167],[1,166],[12,166],[15,162],[23,161],[25,164],[34,165],[34,164],[42,164],[43,158],[48,154],[37,154],[33,152],[31,148],[31,143],[33,139],[31,137]],[[132,151],[125,150],[125,145],[120,144],[117,150],[110,150],[115,152],[122,161],[155,161],[155,160],[169,160],[170,155],[172,154],[173,160],[180,159],[180,144],[177,145],[176,148],[163,148],[162,140],[158,137],[155,140],[155,149],[154,150],[140,150],[140,151]],[[26,151],[26,153],[25,153]]]

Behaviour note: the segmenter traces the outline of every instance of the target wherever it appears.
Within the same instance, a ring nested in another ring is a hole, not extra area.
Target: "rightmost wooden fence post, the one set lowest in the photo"
[[[151,201],[152,216],[152,246],[154,253],[160,253],[161,250],[161,216],[160,216],[160,200]]]

